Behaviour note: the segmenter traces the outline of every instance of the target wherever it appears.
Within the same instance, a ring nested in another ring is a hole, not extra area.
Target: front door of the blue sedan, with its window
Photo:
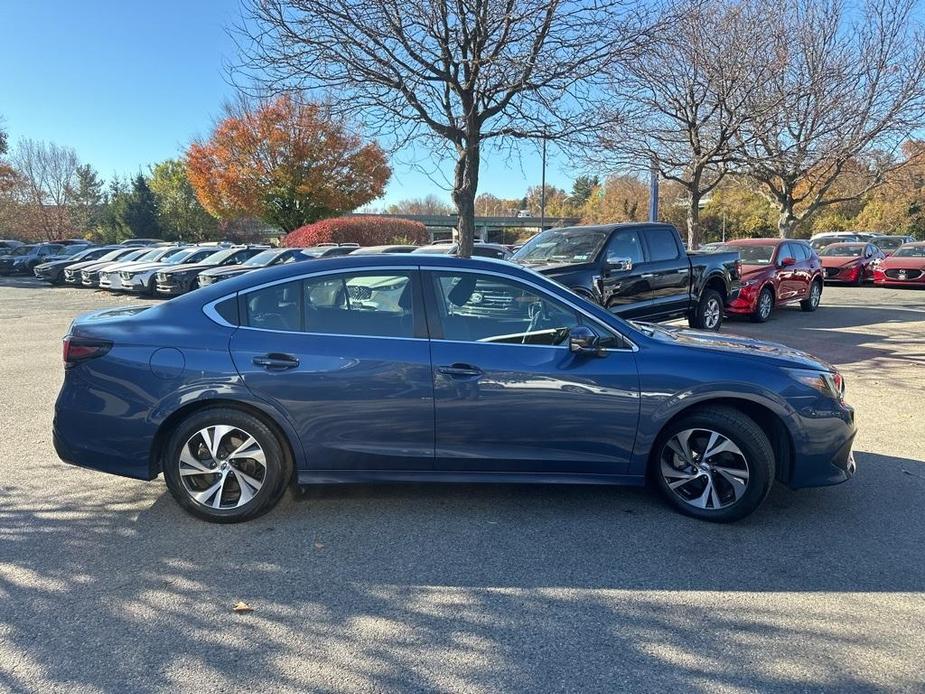
[[[639,418],[635,354],[538,285],[424,268],[436,467],[456,472],[622,474]],[[586,325],[611,347],[572,354]]]

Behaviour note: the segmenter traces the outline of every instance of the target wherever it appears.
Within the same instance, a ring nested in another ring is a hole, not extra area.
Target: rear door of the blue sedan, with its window
[[[433,469],[430,350],[417,270],[334,271],[242,293],[247,387],[287,413],[312,470]]]

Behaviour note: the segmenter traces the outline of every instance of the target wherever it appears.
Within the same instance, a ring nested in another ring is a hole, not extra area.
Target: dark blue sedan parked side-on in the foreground
[[[625,322],[528,269],[345,256],[78,318],[54,441],[241,521],[286,486],[656,484],[732,521],[854,473],[841,375],[782,345]]]

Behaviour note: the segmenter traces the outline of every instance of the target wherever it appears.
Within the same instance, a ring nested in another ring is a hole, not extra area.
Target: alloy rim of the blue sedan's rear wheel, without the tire
[[[260,491],[267,475],[266,455],[257,440],[224,424],[190,436],[177,464],[190,498],[219,510],[244,506]]]

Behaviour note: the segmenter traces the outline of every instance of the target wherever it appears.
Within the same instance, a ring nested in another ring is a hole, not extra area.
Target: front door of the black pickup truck
[[[616,229],[603,251],[597,282],[601,305],[624,318],[648,315],[652,301],[651,278],[643,277],[645,250],[638,228]]]

